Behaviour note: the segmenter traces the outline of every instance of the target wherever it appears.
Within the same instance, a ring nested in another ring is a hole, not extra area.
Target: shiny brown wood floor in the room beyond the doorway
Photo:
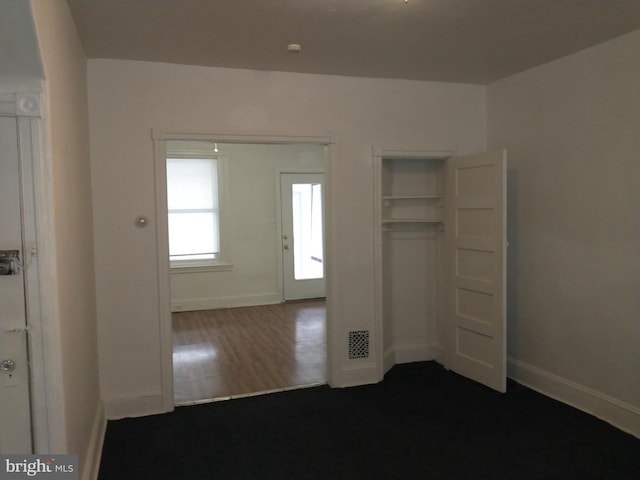
[[[172,314],[177,405],[326,381],[324,300]]]

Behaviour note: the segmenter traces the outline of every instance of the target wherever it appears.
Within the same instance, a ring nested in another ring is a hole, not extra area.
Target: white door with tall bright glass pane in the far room
[[[322,298],[324,174],[280,174],[284,300]]]

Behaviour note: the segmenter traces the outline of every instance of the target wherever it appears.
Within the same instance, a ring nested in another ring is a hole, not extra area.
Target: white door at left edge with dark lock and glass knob
[[[0,117],[0,453],[31,453],[17,120]]]

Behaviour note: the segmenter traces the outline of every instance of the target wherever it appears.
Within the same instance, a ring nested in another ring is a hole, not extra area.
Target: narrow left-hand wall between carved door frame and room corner
[[[51,435],[60,442],[49,447],[50,453],[78,454],[81,478],[89,478],[97,473],[106,422],[98,378],[86,59],[66,2],[37,0],[32,7],[46,77],[45,155],[55,224],[54,244],[38,253],[55,257],[57,271],[51,285],[41,286],[55,292],[58,307],[43,312],[43,328],[59,328],[60,341],[45,346],[45,357],[61,357],[62,371],[50,372],[60,378],[49,381],[62,384],[64,408],[49,413],[58,430]]]

